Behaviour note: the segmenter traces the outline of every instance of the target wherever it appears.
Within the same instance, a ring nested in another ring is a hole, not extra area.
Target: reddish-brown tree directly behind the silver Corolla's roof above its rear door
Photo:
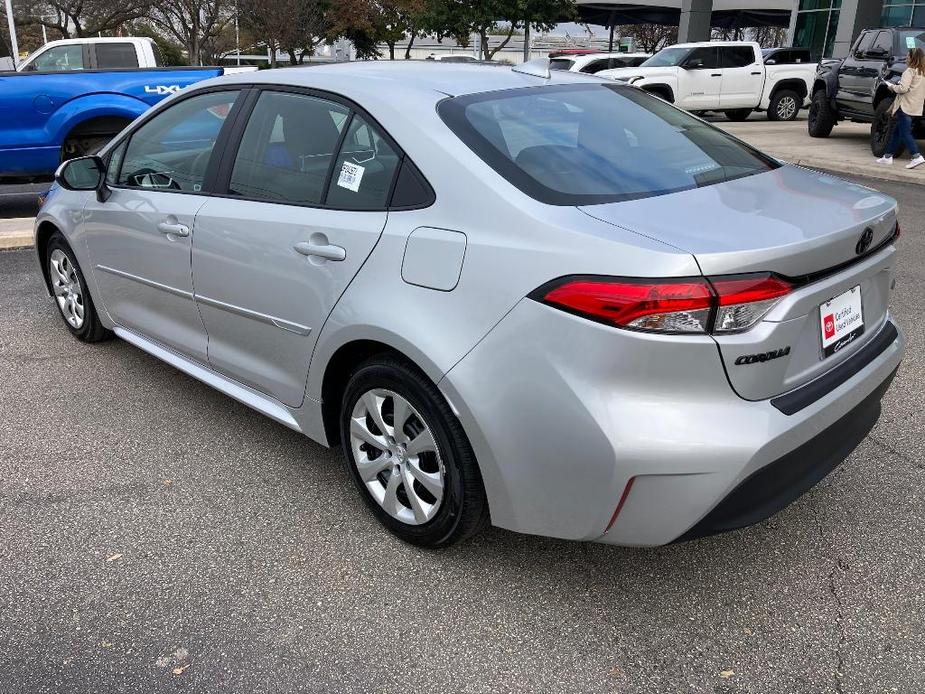
[[[239,0],[242,26],[270,48],[270,67],[277,51],[286,51],[290,63],[301,64],[312,55],[327,33],[326,4],[322,0]]]

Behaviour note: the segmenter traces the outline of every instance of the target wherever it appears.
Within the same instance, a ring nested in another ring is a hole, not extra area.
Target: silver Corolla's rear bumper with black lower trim
[[[757,522],[854,450],[904,347],[897,332],[850,378],[785,414],[737,396],[711,343],[518,304],[440,382],[478,457],[493,524],[652,546]],[[822,445],[831,450],[814,458]]]

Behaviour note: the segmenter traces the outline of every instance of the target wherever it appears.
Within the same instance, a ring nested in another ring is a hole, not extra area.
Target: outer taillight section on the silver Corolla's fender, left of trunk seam
[[[542,301],[621,328],[702,333],[713,305],[704,279],[573,279],[543,293]]]

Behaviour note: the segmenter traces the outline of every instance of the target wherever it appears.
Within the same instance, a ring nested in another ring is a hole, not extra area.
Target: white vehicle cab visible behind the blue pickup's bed
[[[49,41],[19,65],[20,72],[74,72],[113,68],[164,67],[161,50],[147,37]]]

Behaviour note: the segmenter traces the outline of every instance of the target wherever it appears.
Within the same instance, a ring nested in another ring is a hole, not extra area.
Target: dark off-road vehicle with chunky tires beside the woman
[[[925,49],[925,29],[867,29],[847,58],[820,65],[809,107],[810,136],[828,137],[840,120],[871,123],[870,149],[882,156],[892,132],[894,97],[883,81],[899,80],[911,46]],[[916,137],[925,136],[922,119],[913,119],[913,128]]]

